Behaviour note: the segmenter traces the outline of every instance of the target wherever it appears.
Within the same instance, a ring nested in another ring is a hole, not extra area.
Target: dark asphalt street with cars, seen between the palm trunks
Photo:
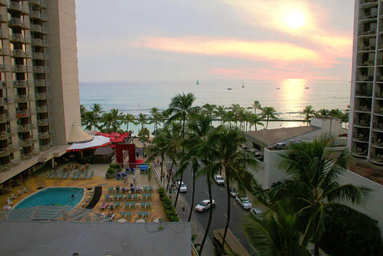
[[[188,192],[181,194],[185,201],[190,205],[191,204],[191,194],[193,189],[192,184],[193,176],[191,175],[190,166],[183,175],[183,182],[188,187]],[[226,187],[218,186],[215,182],[211,185],[211,194],[212,198],[216,201],[216,207],[213,208],[213,217],[211,220],[211,226],[209,229],[209,236],[213,234],[215,229],[224,229],[227,220],[227,197],[226,197]],[[206,178],[197,177],[195,182],[195,204],[200,203],[204,199],[209,199],[209,194],[207,191],[207,182]],[[249,215],[249,210],[242,210],[242,207],[235,201],[235,198],[231,198],[230,202],[231,207],[231,216],[230,216],[230,225],[229,229],[237,236],[238,240],[244,245],[244,248],[250,253],[250,255],[256,255],[255,250],[249,244],[246,236],[244,236],[244,231],[242,224],[246,217]],[[207,227],[207,221],[209,220],[209,211],[204,213],[197,213],[194,211],[193,217],[197,217],[198,222],[202,224],[203,227]]]

